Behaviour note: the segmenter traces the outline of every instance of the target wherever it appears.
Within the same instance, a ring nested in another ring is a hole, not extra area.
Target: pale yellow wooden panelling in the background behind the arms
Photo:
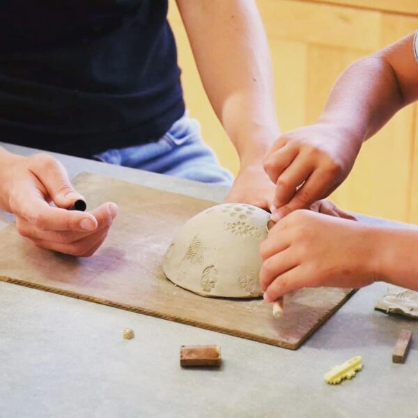
[[[274,95],[283,132],[316,120],[332,85],[350,63],[418,28],[418,17],[344,6],[362,6],[366,0],[340,2],[257,1],[272,54]],[[382,10],[397,5],[408,13],[418,8],[415,0],[371,3]],[[178,41],[187,107],[201,121],[203,139],[222,164],[237,173],[238,158],[203,91],[173,0],[169,20]],[[412,197],[412,190],[414,185],[418,190],[416,124],[416,105],[399,112],[364,145],[353,172],[332,199],[347,210],[415,222],[418,205],[414,203],[418,198]]]

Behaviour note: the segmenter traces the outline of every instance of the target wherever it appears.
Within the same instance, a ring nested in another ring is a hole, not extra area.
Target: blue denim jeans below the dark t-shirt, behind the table
[[[201,139],[199,122],[187,115],[156,142],[110,149],[94,157],[110,164],[203,183],[231,186],[233,182],[231,173],[219,165],[215,153]]]

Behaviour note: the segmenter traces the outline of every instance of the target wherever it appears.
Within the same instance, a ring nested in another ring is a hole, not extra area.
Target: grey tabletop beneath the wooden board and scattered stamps
[[[91,171],[215,201],[226,194],[200,183],[56,157],[70,176]],[[12,220],[1,213],[0,228]],[[384,293],[384,284],[362,289],[291,351],[0,283],[0,416],[417,417],[417,344],[412,342],[405,364],[392,363],[392,350],[401,328],[418,337],[418,325],[374,311]],[[121,338],[125,327],[134,329],[133,340]],[[181,345],[212,343],[222,347],[221,369],[180,369]],[[323,374],[355,355],[362,355],[364,369],[341,385],[326,385]]]

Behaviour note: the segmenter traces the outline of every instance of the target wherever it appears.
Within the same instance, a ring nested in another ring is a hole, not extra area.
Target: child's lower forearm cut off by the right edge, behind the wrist
[[[418,291],[418,230],[380,229],[377,280]]]

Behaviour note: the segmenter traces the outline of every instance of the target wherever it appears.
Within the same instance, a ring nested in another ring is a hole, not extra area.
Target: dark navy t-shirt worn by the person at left
[[[0,141],[91,157],[185,106],[167,0],[2,0]]]

